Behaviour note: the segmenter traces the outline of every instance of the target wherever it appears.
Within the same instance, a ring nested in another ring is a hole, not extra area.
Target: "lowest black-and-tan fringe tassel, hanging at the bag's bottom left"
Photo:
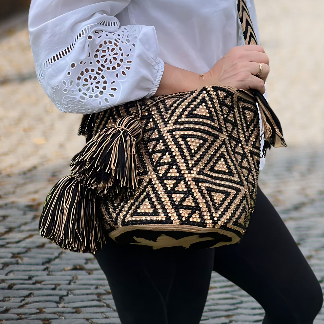
[[[95,193],[74,176],[59,180],[46,197],[39,232],[63,249],[95,253],[105,237]]]

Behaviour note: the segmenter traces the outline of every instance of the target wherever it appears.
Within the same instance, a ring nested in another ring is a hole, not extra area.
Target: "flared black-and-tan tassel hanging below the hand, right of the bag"
[[[258,90],[252,90],[262,118],[262,132],[264,134],[264,145],[262,149],[262,157],[266,155],[267,148],[273,147],[286,147],[284,141],[283,131],[278,117],[275,115],[267,100]]]

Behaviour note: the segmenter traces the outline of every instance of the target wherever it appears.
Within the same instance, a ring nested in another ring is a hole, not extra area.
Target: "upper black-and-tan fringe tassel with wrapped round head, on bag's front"
[[[126,197],[137,188],[135,143],[143,135],[142,125],[133,117],[122,117],[114,126],[95,135],[70,165],[72,174],[100,195]]]

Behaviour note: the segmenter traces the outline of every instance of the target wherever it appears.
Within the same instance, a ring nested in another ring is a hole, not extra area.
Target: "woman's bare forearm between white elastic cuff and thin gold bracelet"
[[[165,63],[160,85],[153,97],[187,92],[199,87],[203,87],[203,77],[198,73]]]

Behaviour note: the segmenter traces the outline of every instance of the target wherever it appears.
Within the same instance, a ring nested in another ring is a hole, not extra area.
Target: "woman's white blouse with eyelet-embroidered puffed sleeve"
[[[236,0],[32,0],[29,36],[46,94],[83,114],[153,96],[164,63],[201,74],[244,45]]]

